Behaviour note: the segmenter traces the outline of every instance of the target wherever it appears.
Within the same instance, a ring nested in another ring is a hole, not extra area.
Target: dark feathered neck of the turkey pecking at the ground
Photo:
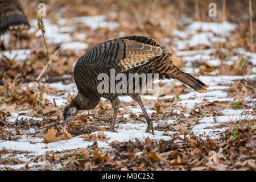
[[[98,96],[86,96],[85,94],[78,93],[75,98],[71,101],[71,105],[76,106],[79,110],[94,109],[100,102]]]

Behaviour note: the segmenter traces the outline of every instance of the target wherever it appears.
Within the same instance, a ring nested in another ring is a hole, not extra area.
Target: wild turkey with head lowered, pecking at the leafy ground
[[[146,36],[126,36],[98,44],[86,52],[77,61],[74,69],[74,78],[78,94],[71,103],[64,109],[64,122],[68,123],[77,113],[77,110],[94,109],[104,97],[112,103],[114,109],[110,131],[114,131],[115,120],[120,101],[118,96],[124,93],[99,93],[97,79],[100,73],[109,75],[110,69],[115,69],[115,74],[124,73],[158,73],[160,79],[174,78],[191,86],[197,92],[206,92],[208,86],[197,80],[188,73],[180,71],[170,57],[166,54],[165,48]],[[146,132],[154,129],[150,117],[141,100],[139,93],[127,93],[134,101],[141,106],[146,117]]]

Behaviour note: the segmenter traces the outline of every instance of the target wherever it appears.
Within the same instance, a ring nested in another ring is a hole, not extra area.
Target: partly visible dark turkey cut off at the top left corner
[[[16,36],[20,31],[29,28],[30,24],[19,0],[0,0],[0,37],[4,33]],[[24,38],[27,39],[26,36]]]

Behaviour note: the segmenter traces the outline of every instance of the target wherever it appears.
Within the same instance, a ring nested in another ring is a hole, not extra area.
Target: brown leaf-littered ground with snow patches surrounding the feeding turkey
[[[1,36],[7,51],[0,52],[0,169],[255,170],[256,53],[248,5],[227,6],[223,20],[221,9],[218,17],[208,16],[210,2],[204,1],[199,21],[193,2],[44,1],[46,54],[39,2],[23,1],[31,24],[23,33],[30,39]],[[209,85],[208,92],[156,80],[159,92],[142,96],[154,134],[144,133],[143,113],[128,96],[119,97],[118,133],[106,131],[113,110],[104,98],[64,125],[64,107],[77,93],[77,59],[127,35],[165,46],[178,67]]]

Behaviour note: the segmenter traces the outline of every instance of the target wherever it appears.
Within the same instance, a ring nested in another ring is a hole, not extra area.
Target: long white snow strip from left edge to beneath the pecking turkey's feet
[[[155,123],[154,123],[155,124]],[[126,123],[119,124],[117,131],[118,133],[105,131],[104,134],[106,138],[110,138],[105,142],[98,142],[99,147],[110,148],[109,143],[114,140],[119,140],[119,142],[127,142],[129,140],[135,141],[135,138],[144,140],[146,137],[151,139],[160,140],[160,139],[170,139],[170,137],[163,136],[163,131],[155,131],[155,134],[144,133],[146,131],[146,123]],[[143,132],[142,132],[143,131]],[[97,134],[99,131],[94,132]],[[29,138],[28,141],[4,141],[0,140],[0,150],[5,148],[6,150],[16,150],[16,151],[27,151],[32,152],[35,155],[44,154],[46,151],[63,151],[63,150],[72,150],[76,148],[86,148],[91,146],[94,142],[85,141],[81,138],[82,135],[74,137],[69,140],[60,140],[58,142],[52,143],[42,143],[42,141],[32,144],[32,139]]]

